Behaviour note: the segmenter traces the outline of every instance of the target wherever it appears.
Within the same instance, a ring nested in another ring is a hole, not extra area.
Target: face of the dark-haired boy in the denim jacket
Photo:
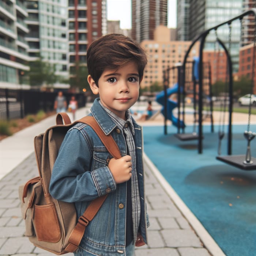
[[[134,62],[119,69],[105,69],[96,86],[89,75],[88,82],[94,94],[99,93],[103,106],[125,120],[125,111],[138,100],[139,72]]]

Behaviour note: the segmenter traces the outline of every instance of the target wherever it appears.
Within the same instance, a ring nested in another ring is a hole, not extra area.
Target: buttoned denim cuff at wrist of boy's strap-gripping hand
[[[93,170],[91,177],[93,178],[99,196],[106,195],[116,190],[116,182],[108,166]]]

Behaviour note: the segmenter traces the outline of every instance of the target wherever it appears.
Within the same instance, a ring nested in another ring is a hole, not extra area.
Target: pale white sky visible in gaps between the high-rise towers
[[[131,29],[131,0],[107,0],[108,20],[120,20],[121,29]],[[168,0],[169,28],[176,27],[176,0]]]

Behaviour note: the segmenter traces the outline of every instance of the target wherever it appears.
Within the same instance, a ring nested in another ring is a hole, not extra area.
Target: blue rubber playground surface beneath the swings
[[[246,128],[233,126],[233,154],[246,153]],[[255,125],[251,128],[256,131]],[[216,159],[218,127],[215,133],[203,127],[203,154],[198,154],[197,140],[180,141],[174,136],[175,127],[167,130],[163,135],[163,126],[143,127],[147,156],[227,256],[256,255],[256,170],[241,170]],[[186,131],[192,132],[192,127]],[[251,148],[255,157],[256,139]]]

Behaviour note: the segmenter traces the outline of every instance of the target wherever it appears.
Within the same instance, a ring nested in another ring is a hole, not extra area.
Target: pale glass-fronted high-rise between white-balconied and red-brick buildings
[[[42,57],[56,75],[68,78],[67,1],[26,0],[31,60]]]

